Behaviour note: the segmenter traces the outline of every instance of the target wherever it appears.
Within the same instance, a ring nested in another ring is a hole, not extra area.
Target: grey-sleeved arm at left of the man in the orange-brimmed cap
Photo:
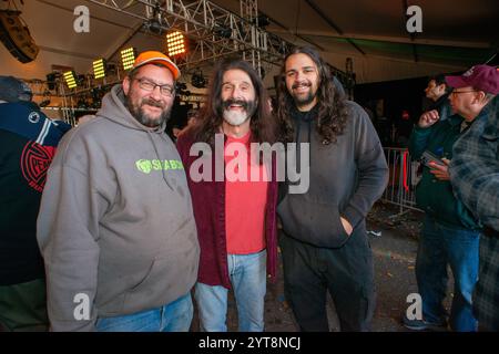
[[[94,331],[99,267],[99,220],[104,205],[82,170],[62,164],[61,149],[49,169],[37,222],[45,262],[52,331]]]

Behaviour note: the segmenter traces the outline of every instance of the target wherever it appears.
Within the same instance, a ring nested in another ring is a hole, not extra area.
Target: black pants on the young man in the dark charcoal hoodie
[[[327,291],[342,331],[370,331],[374,269],[367,236],[356,230],[338,249],[318,248],[284,232],[279,238],[284,292],[301,331],[328,332]]]

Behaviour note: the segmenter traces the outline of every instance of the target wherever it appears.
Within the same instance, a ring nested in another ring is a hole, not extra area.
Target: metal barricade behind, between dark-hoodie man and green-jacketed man
[[[422,211],[416,207],[415,196],[419,181],[419,163],[410,160],[407,148],[385,147],[384,150],[389,167],[389,180],[381,200],[398,206],[399,215],[409,210]]]

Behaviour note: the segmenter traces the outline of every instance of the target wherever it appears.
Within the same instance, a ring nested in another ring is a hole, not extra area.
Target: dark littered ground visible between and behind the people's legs
[[[376,310],[373,320],[374,332],[401,332],[406,330],[400,319],[409,303],[407,295],[417,293],[415,261],[417,238],[424,215],[419,211],[408,211],[399,215],[399,209],[388,204],[378,202],[367,220],[367,229],[381,232],[380,236],[369,235],[374,254],[376,281]],[[450,294],[449,284],[449,295]],[[450,298],[450,296],[448,296]],[[448,306],[450,300],[447,299]],[[327,314],[332,331],[339,331],[334,304],[328,300]],[[230,331],[237,330],[235,301],[230,292],[227,326]],[[193,331],[198,331],[197,314],[194,313]],[[265,331],[296,332],[292,310],[284,298],[283,268],[279,254],[277,281],[267,284],[265,299]]]

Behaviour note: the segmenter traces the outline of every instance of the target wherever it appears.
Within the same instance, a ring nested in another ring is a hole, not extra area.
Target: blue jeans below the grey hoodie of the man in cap
[[[189,332],[193,315],[191,293],[153,310],[116,317],[99,317],[99,332]]]

